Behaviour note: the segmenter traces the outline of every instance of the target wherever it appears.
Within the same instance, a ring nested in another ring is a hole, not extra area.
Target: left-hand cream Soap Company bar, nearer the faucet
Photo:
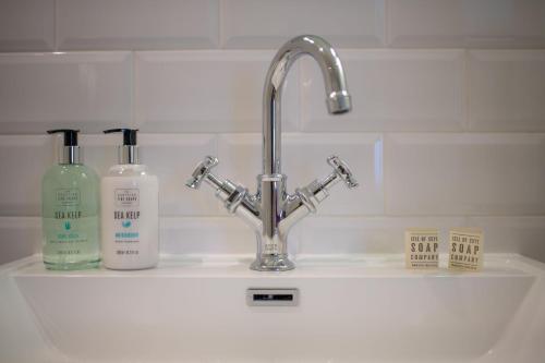
[[[439,267],[439,232],[436,229],[405,230],[405,267]]]

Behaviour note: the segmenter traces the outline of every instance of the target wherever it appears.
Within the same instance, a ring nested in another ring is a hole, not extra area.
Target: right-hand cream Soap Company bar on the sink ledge
[[[477,271],[483,267],[483,232],[480,229],[450,230],[448,268]]]

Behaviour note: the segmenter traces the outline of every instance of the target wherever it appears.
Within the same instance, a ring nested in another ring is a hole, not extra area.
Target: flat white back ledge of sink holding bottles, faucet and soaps
[[[159,265],[142,270],[52,271],[35,254],[0,266],[0,275],[15,277],[206,277],[206,278],[350,278],[350,277],[496,277],[545,276],[545,264],[514,253],[489,253],[481,271],[458,271],[447,268],[448,254],[439,257],[439,267],[408,269],[403,254],[300,255],[296,267],[283,273],[254,271],[249,268],[253,256],[233,255],[161,255]]]

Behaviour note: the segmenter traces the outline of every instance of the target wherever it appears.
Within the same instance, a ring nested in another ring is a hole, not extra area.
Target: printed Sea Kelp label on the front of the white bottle
[[[116,254],[137,255],[140,253],[140,190],[116,189],[113,220],[116,221]]]

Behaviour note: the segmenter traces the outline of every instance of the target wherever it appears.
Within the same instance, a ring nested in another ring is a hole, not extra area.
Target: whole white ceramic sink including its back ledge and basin
[[[545,265],[486,255],[481,273],[411,271],[401,255],[164,258],[142,271],[0,268],[0,362],[545,362]],[[443,262],[445,265],[445,262]],[[298,306],[249,306],[296,288]]]

